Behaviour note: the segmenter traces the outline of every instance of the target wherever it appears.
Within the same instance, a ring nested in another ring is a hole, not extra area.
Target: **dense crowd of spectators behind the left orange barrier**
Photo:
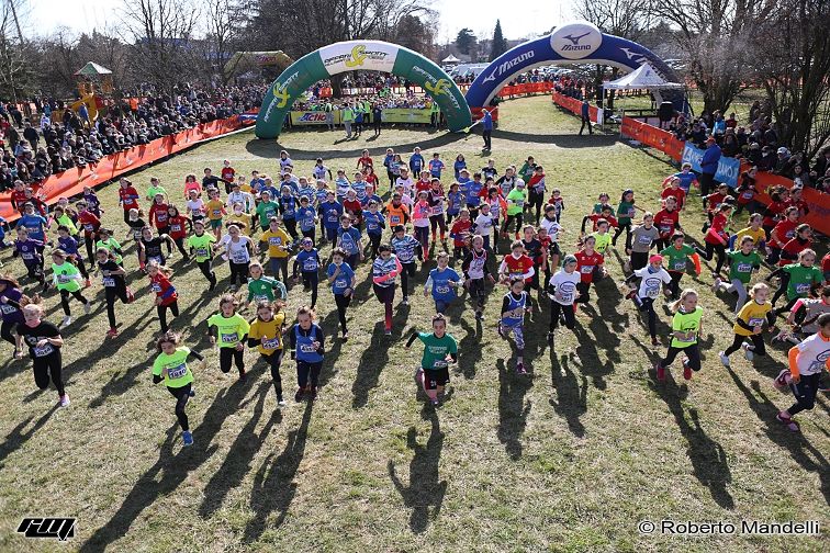
[[[23,116],[14,104],[0,104],[0,191],[15,180],[40,183],[51,174],[97,163],[103,156],[228,117],[259,106],[267,87],[217,88],[210,92],[181,86],[172,94],[149,89],[141,98],[113,102],[92,119],[58,100],[35,103],[35,114]],[[34,120],[34,121],[33,121]]]

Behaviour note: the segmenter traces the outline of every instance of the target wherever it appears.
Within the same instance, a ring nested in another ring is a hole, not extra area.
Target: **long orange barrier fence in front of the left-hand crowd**
[[[242,126],[244,126],[244,123],[237,115],[203,123],[188,131],[157,138],[149,144],[104,156],[96,165],[67,169],[59,174],[51,176],[40,187],[33,188],[38,198],[51,205],[57,202],[59,198],[80,194],[83,187],[98,187],[127,171],[139,169],[153,161],[195,146],[200,142],[231,133]],[[12,222],[20,217],[20,214],[12,207],[10,196],[11,194],[8,192],[0,194],[0,216]]]

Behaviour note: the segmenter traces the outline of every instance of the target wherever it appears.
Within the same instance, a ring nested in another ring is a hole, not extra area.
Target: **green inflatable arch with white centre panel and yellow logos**
[[[461,90],[440,67],[420,54],[381,41],[348,41],[312,52],[273,81],[257,115],[258,138],[277,138],[294,100],[318,80],[345,71],[383,71],[415,82],[438,102],[450,131],[472,124]]]

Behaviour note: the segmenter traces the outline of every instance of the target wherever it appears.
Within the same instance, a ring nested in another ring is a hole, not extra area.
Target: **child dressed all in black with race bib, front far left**
[[[69,406],[69,395],[64,390],[61,376],[63,361],[60,348],[64,338],[60,330],[47,320],[43,320],[43,307],[38,303],[26,304],[23,308],[23,323],[19,323],[16,332],[15,359],[23,357],[23,342],[29,347],[32,359],[35,384],[41,390],[49,387],[49,377],[58,393],[60,407]]]

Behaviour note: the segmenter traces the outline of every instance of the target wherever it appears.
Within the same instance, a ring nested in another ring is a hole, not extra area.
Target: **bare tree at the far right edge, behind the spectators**
[[[781,142],[812,156],[830,139],[830,2],[779,2],[758,23],[750,63]]]

